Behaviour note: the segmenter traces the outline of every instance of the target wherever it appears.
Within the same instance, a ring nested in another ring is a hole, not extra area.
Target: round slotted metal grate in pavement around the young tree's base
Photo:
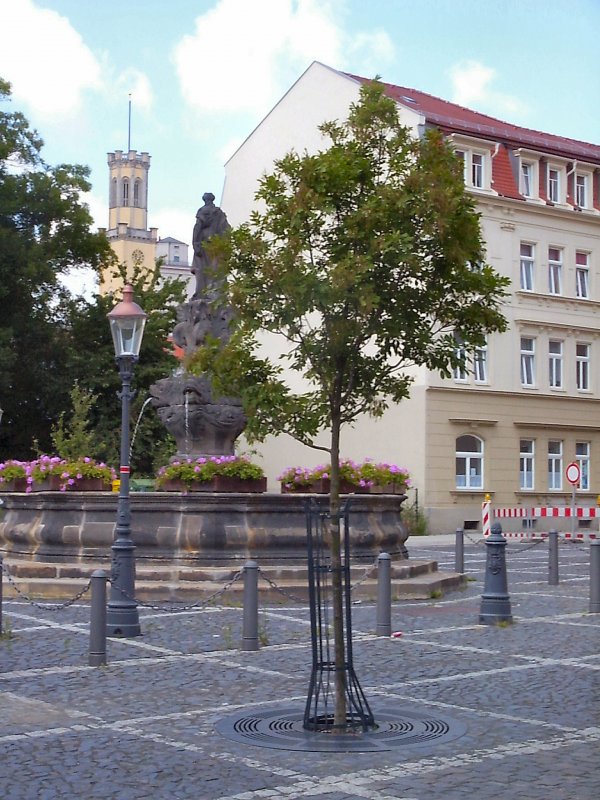
[[[466,726],[448,717],[405,708],[373,709],[377,728],[366,733],[333,734],[306,731],[303,711],[277,708],[238,713],[219,720],[215,727],[226,739],[275,750],[349,753],[424,747],[458,739]]]

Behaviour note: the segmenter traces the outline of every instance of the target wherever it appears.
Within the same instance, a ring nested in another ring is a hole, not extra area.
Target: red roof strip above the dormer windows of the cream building
[[[368,83],[370,80],[369,78],[361,78],[359,75],[343,74],[360,83]],[[504,142],[515,148],[528,147],[532,150],[551,153],[564,158],[576,158],[591,163],[600,163],[600,145],[511,125],[495,117],[480,114],[478,111],[472,111],[469,108],[450,103],[425,92],[419,92],[416,89],[395,86],[391,83],[384,83],[383,85],[388,97],[396,100],[406,108],[411,108],[423,114],[427,122],[451,129],[457,133]]]

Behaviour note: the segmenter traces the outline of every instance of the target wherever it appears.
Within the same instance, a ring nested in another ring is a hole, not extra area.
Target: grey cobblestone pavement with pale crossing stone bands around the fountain
[[[451,545],[409,541],[452,569]],[[262,647],[238,649],[241,609],[140,610],[143,636],[109,640],[87,666],[89,608],[5,599],[0,640],[0,797],[54,800],[598,800],[600,614],[589,608],[589,546],[507,546],[513,625],[478,625],[485,546],[472,580],[441,600],[398,602],[376,637],[373,604],[353,607],[357,674],[377,709],[439,713],[451,741],[365,753],[294,752],[224,738],[235,712],[303,710],[306,606],[260,611]]]

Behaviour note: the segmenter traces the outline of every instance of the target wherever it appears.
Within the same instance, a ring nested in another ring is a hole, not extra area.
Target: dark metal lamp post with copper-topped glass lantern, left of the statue
[[[133,288],[123,289],[123,300],[107,315],[119,365],[121,398],[121,465],[117,524],[112,545],[110,600],[106,609],[107,636],[140,636],[140,619],[135,596],[135,545],[131,539],[129,508],[129,408],[133,365],[138,360],[146,314],[133,302]]]

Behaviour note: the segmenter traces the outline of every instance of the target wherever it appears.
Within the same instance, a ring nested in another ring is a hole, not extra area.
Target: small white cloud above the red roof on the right
[[[495,69],[479,61],[462,61],[455,64],[450,69],[453,102],[484,110],[495,116],[524,114],[527,106],[518,97],[497,92],[491,87],[496,75]]]

